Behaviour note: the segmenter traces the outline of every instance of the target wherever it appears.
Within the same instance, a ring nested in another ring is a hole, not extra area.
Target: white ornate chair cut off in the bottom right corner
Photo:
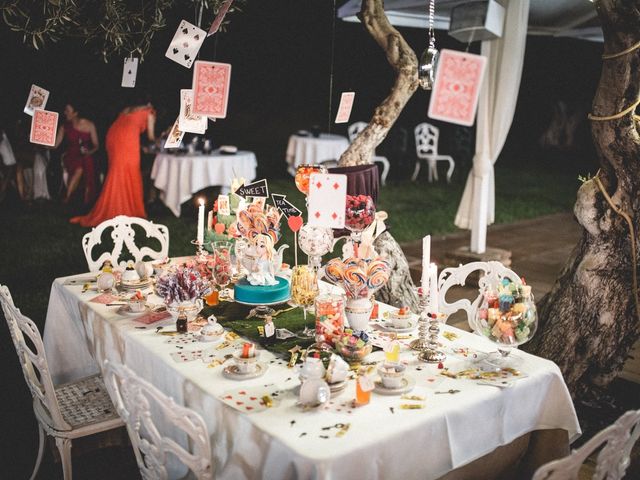
[[[600,447],[602,450],[598,453],[592,478],[619,480],[624,477],[629,466],[631,449],[638,437],[640,410],[630,410],[567,457],[541,466],[534,474],[533,480],[577,479],[584,461]]]

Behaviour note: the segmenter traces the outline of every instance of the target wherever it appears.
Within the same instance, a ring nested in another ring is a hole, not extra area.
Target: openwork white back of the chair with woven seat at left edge
[[[2,310],[9,325],[9,332],[20,360],[24,379],[35,399],[34,408],[44,418],[49,418],[50,424],[56,429],[71,430],[71,426],[64,420],[60,412],[44,353],[44,343],[38,327],[13,304],[9,289],[4,285],[0,285],[0,303],[2,303]],[[30,344],[27,344],[25,336]]]

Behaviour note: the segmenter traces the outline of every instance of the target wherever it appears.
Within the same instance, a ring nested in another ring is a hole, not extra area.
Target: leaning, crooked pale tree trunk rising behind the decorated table
[[[418,58],[400,32],[389,23],[384,13],[384,1],[363,0],[358,18],[384,50],[397,76],[387,98],[376,107],[369,125],[340,157],[340,167],[371,163],[376,147],[385,139],[418,88]],[[414,291],[409,264],[400,245],[391,234],[384,233],[376,240],[376,249],[392,267],[389,281],[380,289],[377,298],[391,305],[408,306],[417,311],[418,297]]]

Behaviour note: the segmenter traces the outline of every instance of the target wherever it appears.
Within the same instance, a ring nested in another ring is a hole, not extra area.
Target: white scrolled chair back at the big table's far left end
[[[138,248],[135,242],[135,230],[133,225],[142,227],[147,238],[154,238],[160,242],[160,249],[154,250],[150,247]],[[105,230],[112,228],[111,238],[113,239],[113,250],[103,252],[97,259],[93,258],[93,249],[102,243],[102,234]],[[82,250],[87,259],[89,270],[98,271],[106,260],[110,260],[113,265],[118,265],[118,259],[122,254],[123,246],[126,245],[129,253],[133,255],[135,261],[148,256],[152,260],[165,258],[169,254],[169,229],[164,225],[155,224],[149,220],[138,217],[127,217],[118,215],[110,220],[105,220],[97,227],[91,229],[82,237]]]

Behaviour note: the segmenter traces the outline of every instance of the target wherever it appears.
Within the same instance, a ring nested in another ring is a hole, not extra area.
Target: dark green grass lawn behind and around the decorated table
[[[304,197],[292,179],[269,182],[270,191],[287,195],[301,210]],[[381,189],[379,208],[389,213],[389,225],[399,242],[419,239],[427,233],[456,231],[453,218],[464,184],[443,181],[390,183]],[[496,222],[507,223],[550,213],[568,211],[575,200],[578,181],[570,174],[541,173],[510,168],[496,170]],[[196,214],[185,206],[182,218],[165,208],[156,208],[150,219],[169,227],[170,256],[193,253]],[[54,278],[87,270],[82,252],[82,236],[89,229],[68,223],[61,205],[45,203],[26,207],[5,201],[0,205],[0,283],[9,286],[14,301],[23,312],[44,325],[49,290]],[[284,242],[293,246],[285,227]],[[303,255],[302,253],[300,253]],[[285,252],[293,263],[293,251]]]

